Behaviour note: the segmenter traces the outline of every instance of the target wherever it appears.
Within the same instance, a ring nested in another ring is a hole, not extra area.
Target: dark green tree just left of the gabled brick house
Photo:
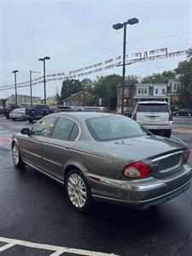
[[[84,87],[78,79],[64,80],[61,88],[61,101],[83,89]]]

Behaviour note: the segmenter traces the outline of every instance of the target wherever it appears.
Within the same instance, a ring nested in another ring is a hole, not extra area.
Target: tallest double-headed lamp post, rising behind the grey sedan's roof
[[[124,44],[123,44],[123,79],[122,79],[122,96],[121,96],[121,114],[124,114],[124,96],[125,96],[125,56],[126,56],[126,25],[134,25],[138,23],[137,18],[132,18],[130,20],[125,21],[124,23],[117,23],[113,25],[113,29],[121,29],[124,28]],[[130,64],[128,64],[130,65]]]

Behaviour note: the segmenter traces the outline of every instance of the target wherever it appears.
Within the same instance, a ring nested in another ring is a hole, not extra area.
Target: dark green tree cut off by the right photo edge
[[[192,108],[192,56],[189,56],[187,61],[179,62],[175,69],[178,79],[183,85],[179,92],[183,96],[184,108]]]

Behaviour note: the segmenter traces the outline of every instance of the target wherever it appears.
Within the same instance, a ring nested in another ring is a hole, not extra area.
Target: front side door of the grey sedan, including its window
[[[22,152],[26,163],[42,169],[42,139],[49,137],[51,129],[55,125],[56,117],[50,116],[41,119],[32,126],[29,136],[22,141]]]

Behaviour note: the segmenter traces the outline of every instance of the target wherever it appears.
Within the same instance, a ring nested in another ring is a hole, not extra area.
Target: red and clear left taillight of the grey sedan
[[[151,169],[143,162],[131,163],[123,169],[125,177],[148,177]]]

